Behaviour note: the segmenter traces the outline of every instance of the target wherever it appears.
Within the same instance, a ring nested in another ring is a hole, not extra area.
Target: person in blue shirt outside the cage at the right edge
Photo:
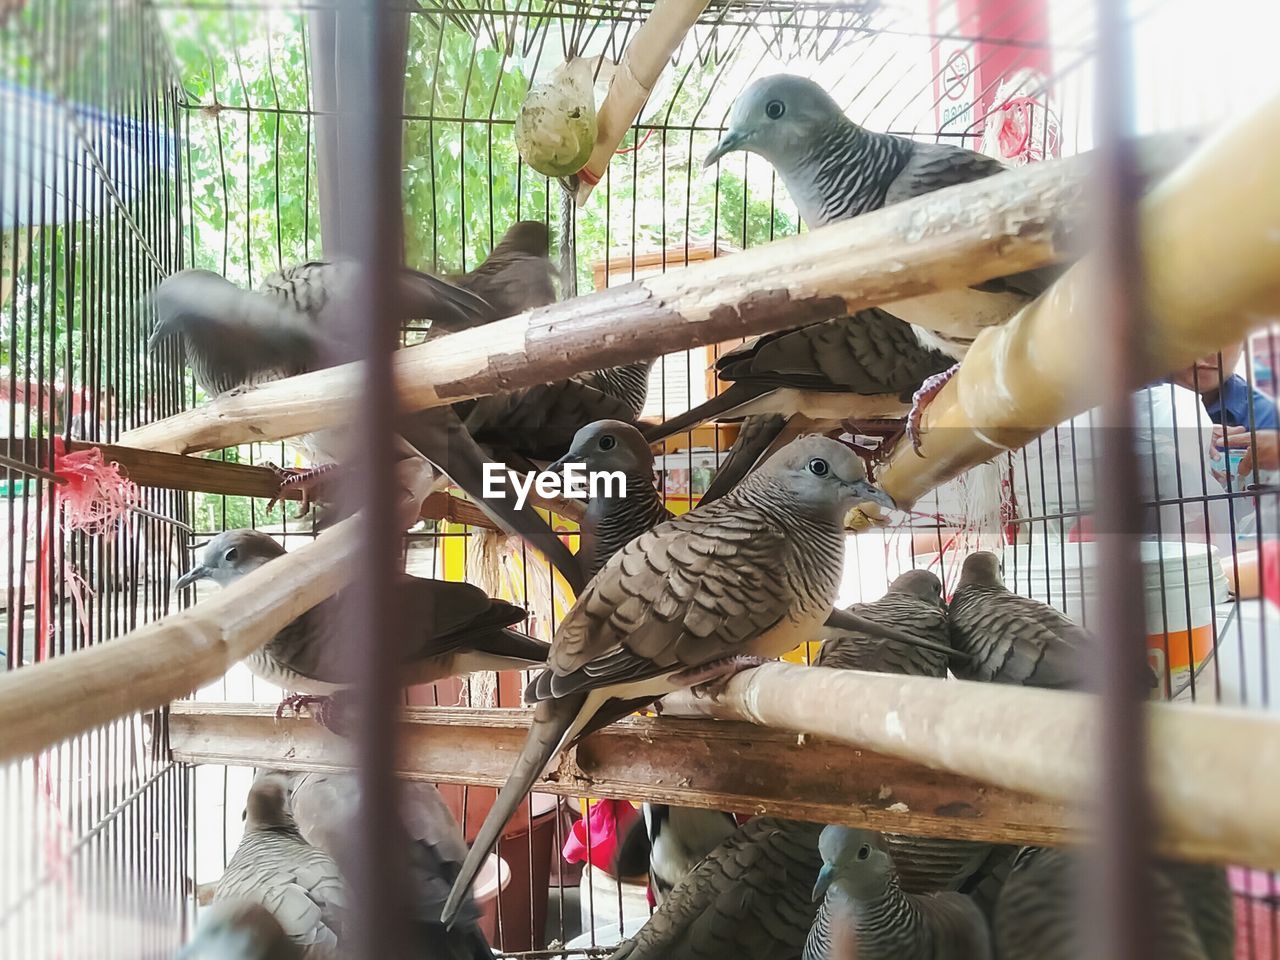
[[[1213,421],[1213,445],[1244,449],[1240,476],[1258,470],[1280,470],[1280,412],[1276,402],[1235,372],[1243,344],[1201,357],[1170,381],[1199,394]],[[1256,434],[1256,439],[1254,439]]]

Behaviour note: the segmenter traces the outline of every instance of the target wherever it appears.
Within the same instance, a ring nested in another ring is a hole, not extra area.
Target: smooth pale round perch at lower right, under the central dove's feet
[[[672,709],[860,746],[1075,809],[1094,781],[1093,696],[771,663]],[[831,704],[849,704],[832,709]],[[1280,721],[1181,704],[1147,710],[1157,845],[1169,855],[1280,868]]]

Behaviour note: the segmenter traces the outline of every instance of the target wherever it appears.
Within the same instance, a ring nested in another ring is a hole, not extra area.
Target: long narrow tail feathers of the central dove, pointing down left
[[[480,873],[481,864],[489,856],[494,844],[498,842],[507,820],[532,790],[547,764],[581,727],[584,716],[589,714],[588,696],[582,692],[543,700],[538,704],[534,710],[534,723],[529,728],[529,737],[520,750],[520,756],[516,758],[516,765],[512,767],[507,782],[498,791],[498,799],[490,808],[489,815],[484,818],[480,832],[467,851],[467,859],[462,863],[462,869],[453,881],[449,899],[444,901],[440,920],[447,925],[453,924],[476,874]]]

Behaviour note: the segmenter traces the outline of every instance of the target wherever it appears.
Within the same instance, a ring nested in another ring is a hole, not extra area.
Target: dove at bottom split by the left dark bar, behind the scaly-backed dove
[[[430,783],[401,781],[401,815],[411,840],[408,849],[408,909],[411,950],[430,960],[493,960],[480,932],[480,910],[463,905],[453,929],[440,923],[449,884],[467,854],[462,829],[440,791]],[[349,773],[296,773],[289,803],[298,829],[308,844],[335,859],[349,854],[352,819],[357,815],[360,785]]]

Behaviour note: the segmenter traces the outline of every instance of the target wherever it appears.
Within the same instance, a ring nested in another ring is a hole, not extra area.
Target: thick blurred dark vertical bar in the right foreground
[[[1146,671],[1146,625],[1137,518],[1142,516],[1134,451],[1133,398],[1129,384],[1139,369],[1143,344],[1142,261],[1135,202],[1139,192],[1133,129],[1129,23],[1124,6],[1097,4],[1097,262],[1098,352],[1106,384],[1102,406],[1101,460],[1097,462],[1100,644],[1094,684],[1102,694],[1101,763],[1094,813],[1098,844],[1093,852],[1087,902],[1097,923],[1089,956],[1105,960],[1155,957],[1147,859],[1149,818],[1146,792],[1146,744],[1142,691]]]

